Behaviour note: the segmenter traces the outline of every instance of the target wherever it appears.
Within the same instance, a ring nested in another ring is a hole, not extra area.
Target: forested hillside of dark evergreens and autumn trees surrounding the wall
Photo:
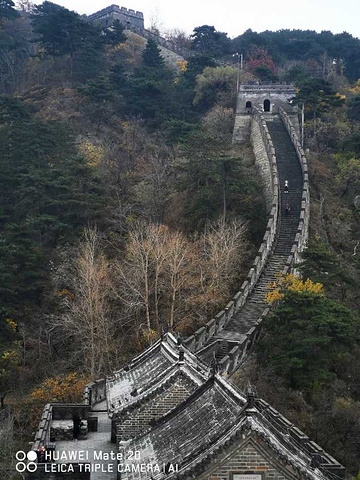
[[[165,62],[119,22],[0,1],[0,464],[44,402],[75,401],[164,331],[192,333],[242,282],[266,225],[251,148],[231,144],[242,53],[241,82],[294,82],[304,102],[299,269],[321,284],[274,286],[246,379],[356,475],[360,40],[169,35],[188,58]]]

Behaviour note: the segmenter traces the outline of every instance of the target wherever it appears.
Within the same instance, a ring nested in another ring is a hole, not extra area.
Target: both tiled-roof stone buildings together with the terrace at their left
[[[251,390],[244,396],[172,334],[106,382],[90,384],[85,394],[81,404],[45,408],[33,450],[45,445],[55,448],[59,456],[73,452],[75,458],[84,451],[114,452],[123,460],[112,460],[112,473],[104,475],[79,469],[79,463],[92,463],[91,457],[75,462],[77,470],[69,475],[46,473],[44,464],[39,464],[28,480],[329,480],[344,476],[344,468],[298,428]],[[74,413],[87,426],[78,442],[68,437]],[[101,464],[107,468],[109,461]]]

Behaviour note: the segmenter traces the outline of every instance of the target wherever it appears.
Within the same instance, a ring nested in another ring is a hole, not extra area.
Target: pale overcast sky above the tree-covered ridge
[[[347,31],[360,37],[360,0],[52,0],[78,13],[94,13],[112,3],[139,10],[145,25],[157,18],[163,29],[180,28],[191,33],[199,25],[214,25],[229,36],[281,28],[334,33]],[[36,0],[34,1],[36,4]]]

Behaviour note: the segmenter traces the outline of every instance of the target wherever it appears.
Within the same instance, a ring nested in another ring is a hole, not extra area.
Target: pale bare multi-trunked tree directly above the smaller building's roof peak
[[[188,251],[186,237],[165,225],[139,223],[129,235],[126,257],[117,265],[118,294],[133,313],[143,309],[149,333],[154,325],[160,333],[165,318],[174,327]]]

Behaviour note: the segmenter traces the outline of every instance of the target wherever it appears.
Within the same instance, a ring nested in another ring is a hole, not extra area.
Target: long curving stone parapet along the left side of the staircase
[[[279,176],[277,171],[275,148],[271,140],[269,130],[267,128],[263,114],[257,109],[253,108],[253,121],[256,121],[259,125],[261,137],[264,143],[264,147],[268,156],[270,165],[270,171],[272,173],[272,207],[269,215],[269,220],[266,226],[266,232],[263,237],[263,241],[258,250],[257,256],[254,260],[252,267],[246,277],[246,280],[241,285],[241,289],[234,295],[232,300],[226,305],[226,307],[219,312],[215,318],[211,319],[206,325],[199,328],[193,335],[184,340],[184,344],[189,350],[196,352],[200,350],[206,343],[217,333],[221,332],[229,323],[231,318],[239,311],[239,309],[246,303],[248,296],[251,294],[255,284],[260,278],[263,272],[264,266],[268,260],[269,254],[272,251],[274,240],[278,231],[279,212],[280,212],[280,189],[279,189]],[[259,321],[261,321],[262,316]],[[253,343],[256,335],[253,329],[248,332],[248,342],[246,345]],[[232,352],[233,358],[238,358],[241,355],[241,351],[245,348],[234,347],[236,351]],[[247,348],[246,348],[247,350]]]

